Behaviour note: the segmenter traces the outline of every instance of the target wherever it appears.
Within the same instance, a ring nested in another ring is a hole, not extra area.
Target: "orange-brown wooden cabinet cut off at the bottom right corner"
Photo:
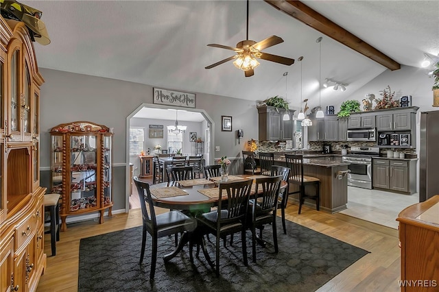
[[[401,291],[437,291],[439,195],[405,208],[396,220],[399,221],[401,281],[412,282],[401,287]]]

